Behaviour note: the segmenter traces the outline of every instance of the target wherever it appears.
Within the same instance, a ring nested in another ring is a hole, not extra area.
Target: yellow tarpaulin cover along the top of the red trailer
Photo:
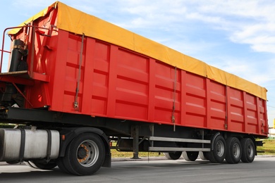
[[[104,20],[88,15],[71,8],[59,1],[52,4],[37,15],[25,21],[29,23],[47,14],[50,8],[58,8],[56,27],[75,34],[85,34],[87,37],[94,37],[105,42],[110,42],[126,49],[137,51],[146,56],[150,56],[176,68],[181,68],[188,72],[193,72],[211,80],[220,82],[229,87],[241,89],[247,93],[267,99],[267,89],[259,85],[244,80],[236,75],[214,68],[211,65],[199,61],[183,53],[170,49],[167,46],[154,42],[138,34],[125,30],[121,27],[108,23]],[[21,25],[25,25],[25,23]],[[8,34],[16,34],[18,30],[11,30]]]

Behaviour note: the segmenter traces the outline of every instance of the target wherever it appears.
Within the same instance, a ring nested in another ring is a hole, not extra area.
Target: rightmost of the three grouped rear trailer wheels
[[[243,152],[241,160],[243,163],[252,163],[256,154],[255,144],[253,143],[252,139],[241,139],[240,145]]]

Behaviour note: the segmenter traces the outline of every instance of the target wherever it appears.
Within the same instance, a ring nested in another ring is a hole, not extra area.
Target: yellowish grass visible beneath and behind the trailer
[[[275,139],[264,139],[264,146],[257,146],[258,155],[275,155]],[[133,152],[122,152],[111,149],[112,158],[132,158]],[[141,157],[157,157],[164,156],[163,153],[140,152],[138,156]]]

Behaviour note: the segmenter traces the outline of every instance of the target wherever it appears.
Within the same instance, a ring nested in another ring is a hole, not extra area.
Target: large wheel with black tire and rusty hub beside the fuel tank
[[[105,149],[97,134],[84,133],[73,139],[66,149],[63,165],[74,175],[92,175],[102,166]]]

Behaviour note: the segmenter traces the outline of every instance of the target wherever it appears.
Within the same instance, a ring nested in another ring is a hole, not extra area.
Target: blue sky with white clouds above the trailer
[[[61,2],[267,88],[269,127],[273,127],[274,0]],[[49,0],[1,0],[0,34],[6,27],[23,23],[53,3]]]

